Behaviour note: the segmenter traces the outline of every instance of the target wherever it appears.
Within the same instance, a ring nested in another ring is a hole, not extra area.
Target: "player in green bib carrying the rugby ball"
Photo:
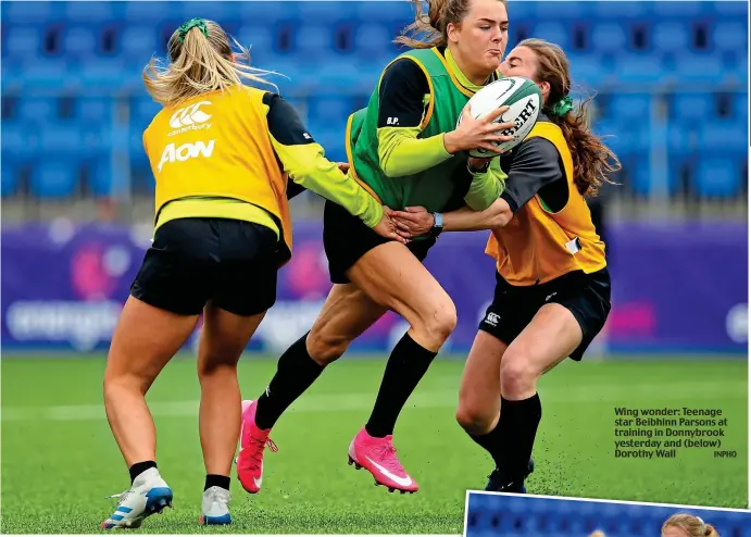
[[[498,77],[508,40],[505,0],[430,0],[427,17],[420,1],[415,4],[408,32],[425,33],[425,40],[397,39],[412,50],[385,68],[367,108],[349,118],[350,174],[391,209],[422,204],[440,212],[466,203],[481,211],[500,196],[504,174],[498,159],[467,159],[465,151],[496,150],[493,141],[511,139],[497,132],[513,124],[491,123],[503,109],[479,121],[463,111]],[[406,246],[387,241],[326,204],[324,248],[335,285],[311,332],[281,355],[265,392],[243,412],[237,464],[246,490],[259,491],[264,445],[285,409],[388,310],[404,317],[410,329],[391,352],[370,420],[350,444],[349,461],[391,491],[417,490],[397,459],[392,433],[456,324],[453,302],[422,264],[439,233],[436,225],[428,237]]]

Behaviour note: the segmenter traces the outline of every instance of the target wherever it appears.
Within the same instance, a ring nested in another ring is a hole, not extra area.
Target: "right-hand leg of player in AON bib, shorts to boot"
[[[206,470],[202,524],[229,524],[229,474],[240,437],[237,363],[276,301],[277,236],[249,222],[213,222],[220,266],[198,347],[199,428]]]

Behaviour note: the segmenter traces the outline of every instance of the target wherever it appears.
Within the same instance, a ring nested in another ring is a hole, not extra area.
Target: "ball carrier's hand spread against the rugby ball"
[[[493,123],[493,121],[499,118],[506,110],[509,110],[509,107],[501,107],[485,117],[475,120],[470,114],[470,103],[467,103],[464,107],[464,110],[462,110],[461,124],[454,130],[447,133],[443,136],[443,145],[446,146],[446,150],[449,153],[454,154],[459,151],[487,149],[493,153],[501,154],[503,151],[492,143],[501,143],[513,140],[513,136],[504,136],[498,133],[512,128],[514,126],[514,122]]]

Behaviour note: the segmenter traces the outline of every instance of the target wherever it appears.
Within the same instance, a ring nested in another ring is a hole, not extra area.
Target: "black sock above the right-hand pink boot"
[[[393,434],[401,409],[427,372],[436,354],[416,344],[409,333],[404,334],[391,351],[386,364],[373,413],[365,425],[368,435],[383,438]]]

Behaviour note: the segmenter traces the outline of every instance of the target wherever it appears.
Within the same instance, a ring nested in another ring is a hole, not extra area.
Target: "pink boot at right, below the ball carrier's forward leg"
[[[401,494],[413,494],[420,488],[397,459],[391,435],[374,438],[365,432],[365,427],[360,429],[350,444],[349,464],[354,464],[356,470],[367,470],[375,477],[376,486],[383,485],[389,492],[399,490]]]

